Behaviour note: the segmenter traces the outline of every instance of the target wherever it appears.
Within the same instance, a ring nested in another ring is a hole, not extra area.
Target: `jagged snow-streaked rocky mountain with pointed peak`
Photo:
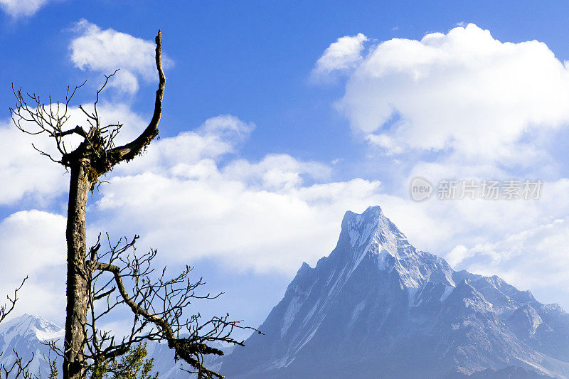
[[[347,212],[338,243],[306,263],[228,378],[569,378],[569,315],[499,277],[455,272],[379,207]],[[514,374],[513,374],[514,373]]]

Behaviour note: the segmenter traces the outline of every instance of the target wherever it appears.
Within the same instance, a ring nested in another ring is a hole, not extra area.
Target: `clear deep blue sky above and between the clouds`
[[[3,57],[2,80],[4,85],[15,81],[50,93],[82,82],[85,75],[68,60],[73,37],[68,29],[80,18],[149,40],[161,28],[164,49],[176,62],[168,76],[170,112],[164,114],[164,137],[211,115],[229,113],[260,126],[241,151],[246,157],[282,151],[303,159],[357,159],[361,146],[349,138],[346,120],[330,107],[341,87],[308,81],[314,61],[340,36],[361,32],[378,41],[421,38],[429,31],[472,22],[500,41],[537,39],[560,59],[569,54],[562,1],[552,1],[549,7],[527,2],[450,4],[190,1],[161,6],[146,1],[56,1],[18,21],[3,14],[2,43],[11,53]],[[87,100],[90,94],[83,95]],[[144,112],[152,95],[148,88],[139,92],[132,99],[134,109]],[[11,104],[9,91],[0,96]],[[336,149],[346,143],[350,145]]]

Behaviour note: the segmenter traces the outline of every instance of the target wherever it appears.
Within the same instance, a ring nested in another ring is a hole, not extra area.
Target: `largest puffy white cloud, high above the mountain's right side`
[[[379,43],[358,61],[337,106],[391,154],[450,151],[513,164],[521,151],[539,154],[524,142],[528,132],[569,122],[568,103],[568,67],[545,43],[503,43],[469,24]]]

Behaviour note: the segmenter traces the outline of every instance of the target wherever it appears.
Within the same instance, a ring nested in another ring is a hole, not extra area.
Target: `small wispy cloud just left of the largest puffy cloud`
[[[362,33],[356,36],[344,36],[332,43],[319,58],[313,75],[328,75],[334,71],[346,71],[361,63],[363,43],[368,38]]]

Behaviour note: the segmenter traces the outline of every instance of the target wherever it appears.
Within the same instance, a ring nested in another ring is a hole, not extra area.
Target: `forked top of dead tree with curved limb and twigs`
[[[14,85],[12,89],[16,97],[16,107],[11,108],[11,117],[18,129],[27,134],[47,134],[48,137],[55,140],[55,151],[46,151],[36,148],[41,155],[47,156],[52,161],[71,167],[75,164],[83,164],[88,173],[88,179],[92,186],[95,186],[98,178],[114,166],[122,161],[129,161],[135,156],[142,154],[144,149],[158,135],[158,124],[162,114],[162,99],[164,97],[164,87],[166,85],[166,76],[162,70],[161,51],[162,38],[161,32],[158,31],[156,36],[156,70],[158,71],[158,89],[156,90],[156,98],[154,100],[154,113],[148,126],[144,131],[132,142],[122,146],[115,146],[115,137],[119,134],[122,124],[102,124],[97,105],[100,100],[100,94],[105,89],[109,80],[117,73],[105,75],[105,82],[97,90],[95,102],[92,105],[92,112],[85,110],[85,107],[79,106],[78,109],[83,112],[86,117],[87,124],[83,127],[79,125],[69,128],[67,123],[71,117],[71,105],[75,93],[80,87],[76,86],[73,90],[68,87],[64,102],[52,102],[48,98],[48,102],[43,100],[36,94],[23,93],[21,89],[16,90]],[[70,142],[66,137],[78,136],[80,144],[75,149],[69,149]],[[59,156],[55,156],[58,154]]]

